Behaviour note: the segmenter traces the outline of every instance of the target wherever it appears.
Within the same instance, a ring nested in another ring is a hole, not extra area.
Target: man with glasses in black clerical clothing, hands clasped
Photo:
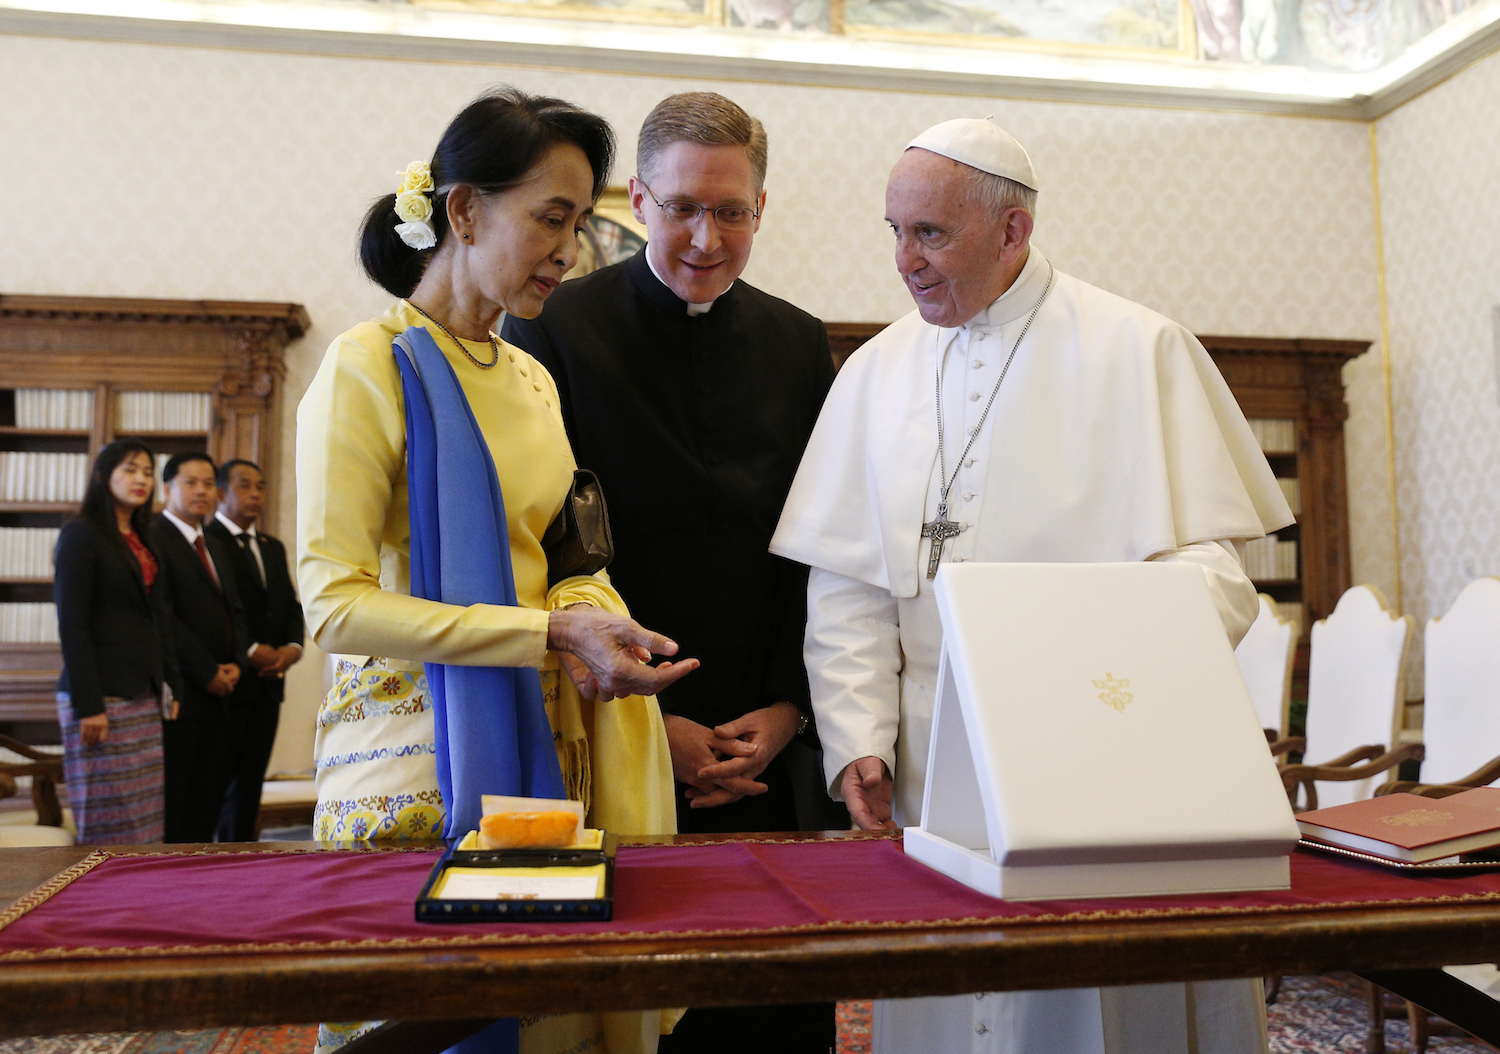
[[[765,205],[765,130],[723,96],[670,96],[636,165],[646,247],[502,336],[556,381],[632,615],[702,660],[660,696],[678,828],[846,828],[813,757],[807,568],[768,552],[834,370],[820,321],[736,280]],[[662,1050],[822,1054],[832,1035],[830,1005],[692,1011]]]

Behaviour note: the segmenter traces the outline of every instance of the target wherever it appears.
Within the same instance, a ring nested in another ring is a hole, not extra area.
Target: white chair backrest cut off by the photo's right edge
[[[1452,783],[1500,754],[1500,579],[1464,586],[1426,624],[1422,783]]]

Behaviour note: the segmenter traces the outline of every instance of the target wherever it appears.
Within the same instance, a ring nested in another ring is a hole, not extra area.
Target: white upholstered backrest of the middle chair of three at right
[[[1354,586],[1334,613],[1312,624],[1308,670],[1306,765],[1324,765],[1356,747],[1395,744],[1401,724],[1406,649],[1412,619],[1395,616],[1374,586]],[[1370,798],[1395,774],[1320,781],[1318,807]]]

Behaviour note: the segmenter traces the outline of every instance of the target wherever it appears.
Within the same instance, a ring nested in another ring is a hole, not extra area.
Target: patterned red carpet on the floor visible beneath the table
[[[1365,1002],[1346,979],[1287,978],[1268,1008],[1270,1054],[1341,1054],[1364,1051]],[[310,1054],[314,1026],[156,1032],[140,1035],[54,1036],[0,1042],[0,1054]],[[1386,1051],[1412,1050],[1407,1023],[1386,1023]],[[1434,1036],[1432,1054],[1491,1054],[1474,1039]],[[711,1054],[705,1051],[704,1054]],[[838,1005],[838,1054],[870,1054],[870,1003]]]

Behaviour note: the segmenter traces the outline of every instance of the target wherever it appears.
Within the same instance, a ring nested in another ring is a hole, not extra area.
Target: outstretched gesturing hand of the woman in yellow
[[[548,648],[579,693],[603,702],[654,696],[698,669],[696,658],[651,666],[651,655],[675,655],[676,645],[634,619],[582,604],[548,616]]]

